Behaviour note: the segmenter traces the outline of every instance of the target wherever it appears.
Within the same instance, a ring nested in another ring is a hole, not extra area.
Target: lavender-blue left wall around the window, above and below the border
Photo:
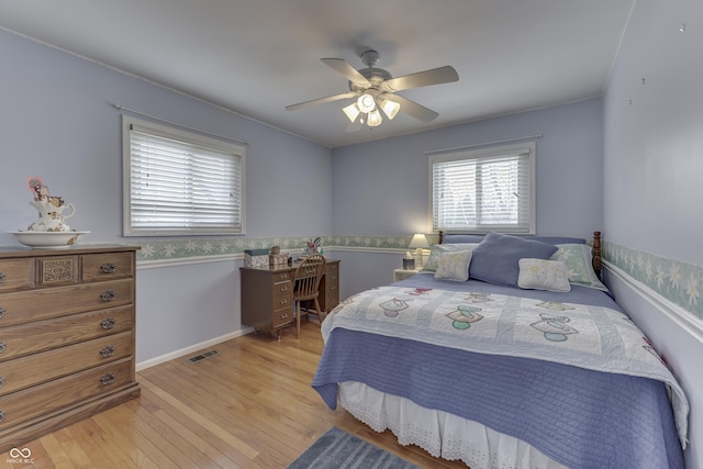
[[[0,57],[0,245],[16,244],[5,232],[36,220],[31,176],[76,205],[69,222],[91,232],[83,243],[141,245],[137,364],[241,333],[238,267],[249,243],[332,232],[328,148],[4,31]],[[223,259],[174,260],[192,254],[183,239],[121,236],[121,114],[113,104],[248,143],[247,236],[189,239]]]

